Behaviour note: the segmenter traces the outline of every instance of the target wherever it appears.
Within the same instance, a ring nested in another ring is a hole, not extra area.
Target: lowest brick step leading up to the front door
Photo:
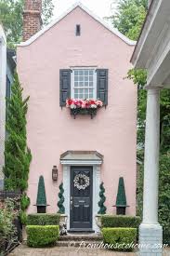
[[[65,241],[62,241],[62,240],[59,240],[57,242],[57,246],[58,247],[81,247],[81,248],[86,248],[87,245],[89,245],[90,248],[98,248],[98,246],[102,243],[102,240],[101,241],[91,241],[91,240],[65,240]]]

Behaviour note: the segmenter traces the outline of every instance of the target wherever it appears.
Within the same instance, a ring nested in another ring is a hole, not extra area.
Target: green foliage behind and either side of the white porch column
[[[147,90],[142,87],[146,84],[146,72],[131,70],[128,78],[133,79],[138,86],[137,106],[137,144],[141,148],[137,151],[139,159],[144,160],[145,120],[147,105]],[[170,90],[162,89],[160,92],[160,178],[159,178],[159,222],[163,225],[163,242],[170,244]],[[137,180],[137,214],[142,216],[143,204],[143,170],[139,168]]]

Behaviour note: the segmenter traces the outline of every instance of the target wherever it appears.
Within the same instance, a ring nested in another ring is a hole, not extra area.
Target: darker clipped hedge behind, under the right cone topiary
[[[104,215],[101,217],[102,227],[134,227],[138,228],[141,222],[138,216]]]

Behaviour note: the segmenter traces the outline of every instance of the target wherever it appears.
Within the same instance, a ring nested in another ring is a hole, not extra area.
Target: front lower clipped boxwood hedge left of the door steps
[[[54,245],[59,239],[59,225],[28,225],[26,232],[27,244],[30,247]]]

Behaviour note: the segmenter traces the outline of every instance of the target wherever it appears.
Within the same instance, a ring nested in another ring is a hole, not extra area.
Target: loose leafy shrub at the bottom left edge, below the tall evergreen
[[[6,252],[12,244],[17,243],[17,230],[14,219],[18,216],[14,200],[7,199],[0,209],[0,253]],[[5,245],[7,250],[4,251]]]

